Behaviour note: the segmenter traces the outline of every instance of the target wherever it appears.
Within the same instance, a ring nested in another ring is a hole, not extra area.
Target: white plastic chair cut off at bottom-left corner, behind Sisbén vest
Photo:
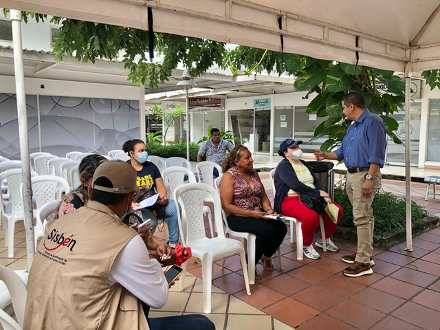
[[[12,307],[17,321],[14,320],[3,309],[0,309],[0,322],[3,329],[23,329],[25,319],[26,298],[28,289],[21,277],[5,266],[0,266],[0,280],[6,285],[9,291]]]

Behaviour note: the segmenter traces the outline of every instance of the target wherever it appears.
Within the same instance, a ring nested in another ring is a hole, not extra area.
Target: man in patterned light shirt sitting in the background
[[[199,152],[197,153],[197,163],[203,160],[203,155],[206,155],[206,160],[217,163],[221,166],[223,160],[228,157],[226,151],[231,152],[233,148],[234,144],[220,138],[219,129],[211,129],[210,140],[203,142],[199,148]],[[219,171],[217,168],[214,168],[213,175],[214,177],[219,176]]]

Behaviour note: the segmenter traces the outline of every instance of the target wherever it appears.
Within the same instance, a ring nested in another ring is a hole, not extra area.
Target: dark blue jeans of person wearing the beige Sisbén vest
[[[166,318],[147,318],[150,330],[215,330],[214,323],[204,315],[168,316]]]

